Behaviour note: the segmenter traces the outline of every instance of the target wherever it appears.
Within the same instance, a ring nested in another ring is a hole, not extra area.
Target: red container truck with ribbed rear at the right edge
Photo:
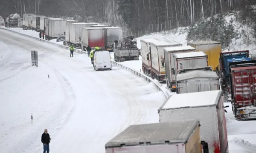
[[[239,121],[256,119],[256,60],[231,63],[233,114]]]

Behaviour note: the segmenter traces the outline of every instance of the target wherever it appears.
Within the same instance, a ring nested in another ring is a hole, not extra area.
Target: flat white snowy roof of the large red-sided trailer
[[[221,96],[222,90],[174,94],[166,99],[159,110],[217,105]]]

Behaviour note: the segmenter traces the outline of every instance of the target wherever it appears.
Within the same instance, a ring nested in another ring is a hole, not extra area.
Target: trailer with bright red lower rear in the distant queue
[[[82,44],[83,48],[90,45],[91,48],[99,46],[99,48],[104,48],[105,46],[105,37],[104,29],[95,27],[95,28],[83,28],[82,29]]]

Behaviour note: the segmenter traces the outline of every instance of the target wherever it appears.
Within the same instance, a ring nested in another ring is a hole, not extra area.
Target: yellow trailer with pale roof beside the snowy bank
[[[221,53],[221,42],[215,41],[201,41],[201,42],[188,42],[190,45],[196,49],[196,51],[204,51],[208,56],[208,66],[212,66],[213,71],[219,65],[219,58]]]

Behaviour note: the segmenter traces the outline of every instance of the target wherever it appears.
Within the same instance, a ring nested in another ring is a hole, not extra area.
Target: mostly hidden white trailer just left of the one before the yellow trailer
[[[179,47],[166,47],[163,48],[164,51],[164,67],[166,68],[166,84],[167,87],[171,89],[172,92],[176,92],[176,76],[172,73],[175,71],[175,62],[173,54],[175,53],[187,53],[195,52],[195,48],[191,46],[179,46]]]

